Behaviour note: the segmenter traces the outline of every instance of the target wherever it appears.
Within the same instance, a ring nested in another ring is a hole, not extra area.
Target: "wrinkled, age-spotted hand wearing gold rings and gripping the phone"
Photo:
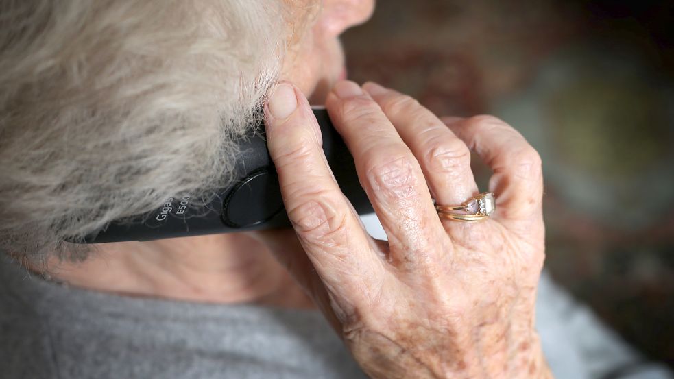
[[[266,114],[294,230],[250,235],[372,378],[551,377],[534,329],[544,260],[536,151],[494,117],[440,119],[370,82],[337,83],[326,108],[388,242],[365,232],[339,191],[309,103],[289,83],[277,86]],[[494,172],[496,211],[479,223],[440,218],[433,199],[461,204],[479,193],[470,149]]]

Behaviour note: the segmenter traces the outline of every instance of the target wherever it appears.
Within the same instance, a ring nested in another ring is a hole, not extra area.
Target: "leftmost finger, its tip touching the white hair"
[[[265,106],[267,145],[288,217],[318,275],[333,295],[366,295],[382,269],[322,149],[309,102],[290,83],[277,84]]]

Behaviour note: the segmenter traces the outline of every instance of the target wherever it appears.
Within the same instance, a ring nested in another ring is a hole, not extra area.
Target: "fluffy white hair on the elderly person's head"
[[[282,66],[282,8],[1,1],[0,250],[72,257],[64,239],[228,184]]]

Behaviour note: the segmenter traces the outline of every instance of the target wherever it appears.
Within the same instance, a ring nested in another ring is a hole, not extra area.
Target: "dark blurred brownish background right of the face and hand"
[[[543,159],[547,269],[674,367],[673,3],[380,0],[344,45],[356,82],[520,130]]]

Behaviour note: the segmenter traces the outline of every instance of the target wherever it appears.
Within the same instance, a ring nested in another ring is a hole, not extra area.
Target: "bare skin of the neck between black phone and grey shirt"
[[[47,269],[73,286],[120,295],[313,308],[268,249],[245,234],[106,243],[84,262],[53,260]]]

